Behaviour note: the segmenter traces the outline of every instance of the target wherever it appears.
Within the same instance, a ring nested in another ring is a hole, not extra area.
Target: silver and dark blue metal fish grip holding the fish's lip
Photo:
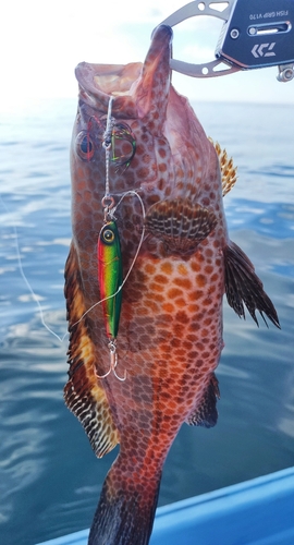
[[[171,60],[171,69],[194,77],[279,66],[278,80],[294,77],[294,0],[193,0],[161,24],[211,15],[223,21],[216,59],[204,64]]]

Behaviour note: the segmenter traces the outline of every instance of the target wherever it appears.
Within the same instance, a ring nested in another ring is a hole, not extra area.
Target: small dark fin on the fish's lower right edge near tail
[[[212,373],[201,403],[187,417],[191,426],[213,427],[218,422],[217,400],[220,398],[219,382]]]

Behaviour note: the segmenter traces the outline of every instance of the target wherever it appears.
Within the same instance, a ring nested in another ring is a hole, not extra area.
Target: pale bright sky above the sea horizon
[[[152,29],[185,0],[14,0],[1,7],[0,109],[27,97],[76,97],[74,68],[81,61],[144,61]],[[174,27],[173,57],[208,62],[222,22],[198,16]],[[277,81],[278,68],[215,78],[173,73],[189,100],[294,105],[294,80]]]

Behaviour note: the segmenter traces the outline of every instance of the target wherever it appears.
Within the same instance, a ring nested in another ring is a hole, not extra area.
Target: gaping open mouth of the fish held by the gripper
[[[75,70],[79,98],[97,110],[105,111],[109,97],[114,98],[113,113],[144,117],[159,102],[167,102],[170,87],[172,29],[167,25],[155,28],[144,63],[93,64],[81,62]],[[164,98],[164,99],[163,99]],[[163,113],[163,112],[162,112]]]

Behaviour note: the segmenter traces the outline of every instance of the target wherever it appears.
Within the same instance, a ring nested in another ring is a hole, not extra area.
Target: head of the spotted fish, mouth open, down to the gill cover
[[[72,173],[74,183],[83,180],[84,191],[90,192],[96,205],[106,185],[102,144],[110,97],[114,120],[110,193],[142,189],[148,194],[148,206],[167,196],[193,197],[201,179],[208,178],[211,149],[216,157],[213,146],[187,99],[171,85],[171,55],[172,29],[161,25],[152,34],[144,63],[82,62],[76,68],[79,102]]]

